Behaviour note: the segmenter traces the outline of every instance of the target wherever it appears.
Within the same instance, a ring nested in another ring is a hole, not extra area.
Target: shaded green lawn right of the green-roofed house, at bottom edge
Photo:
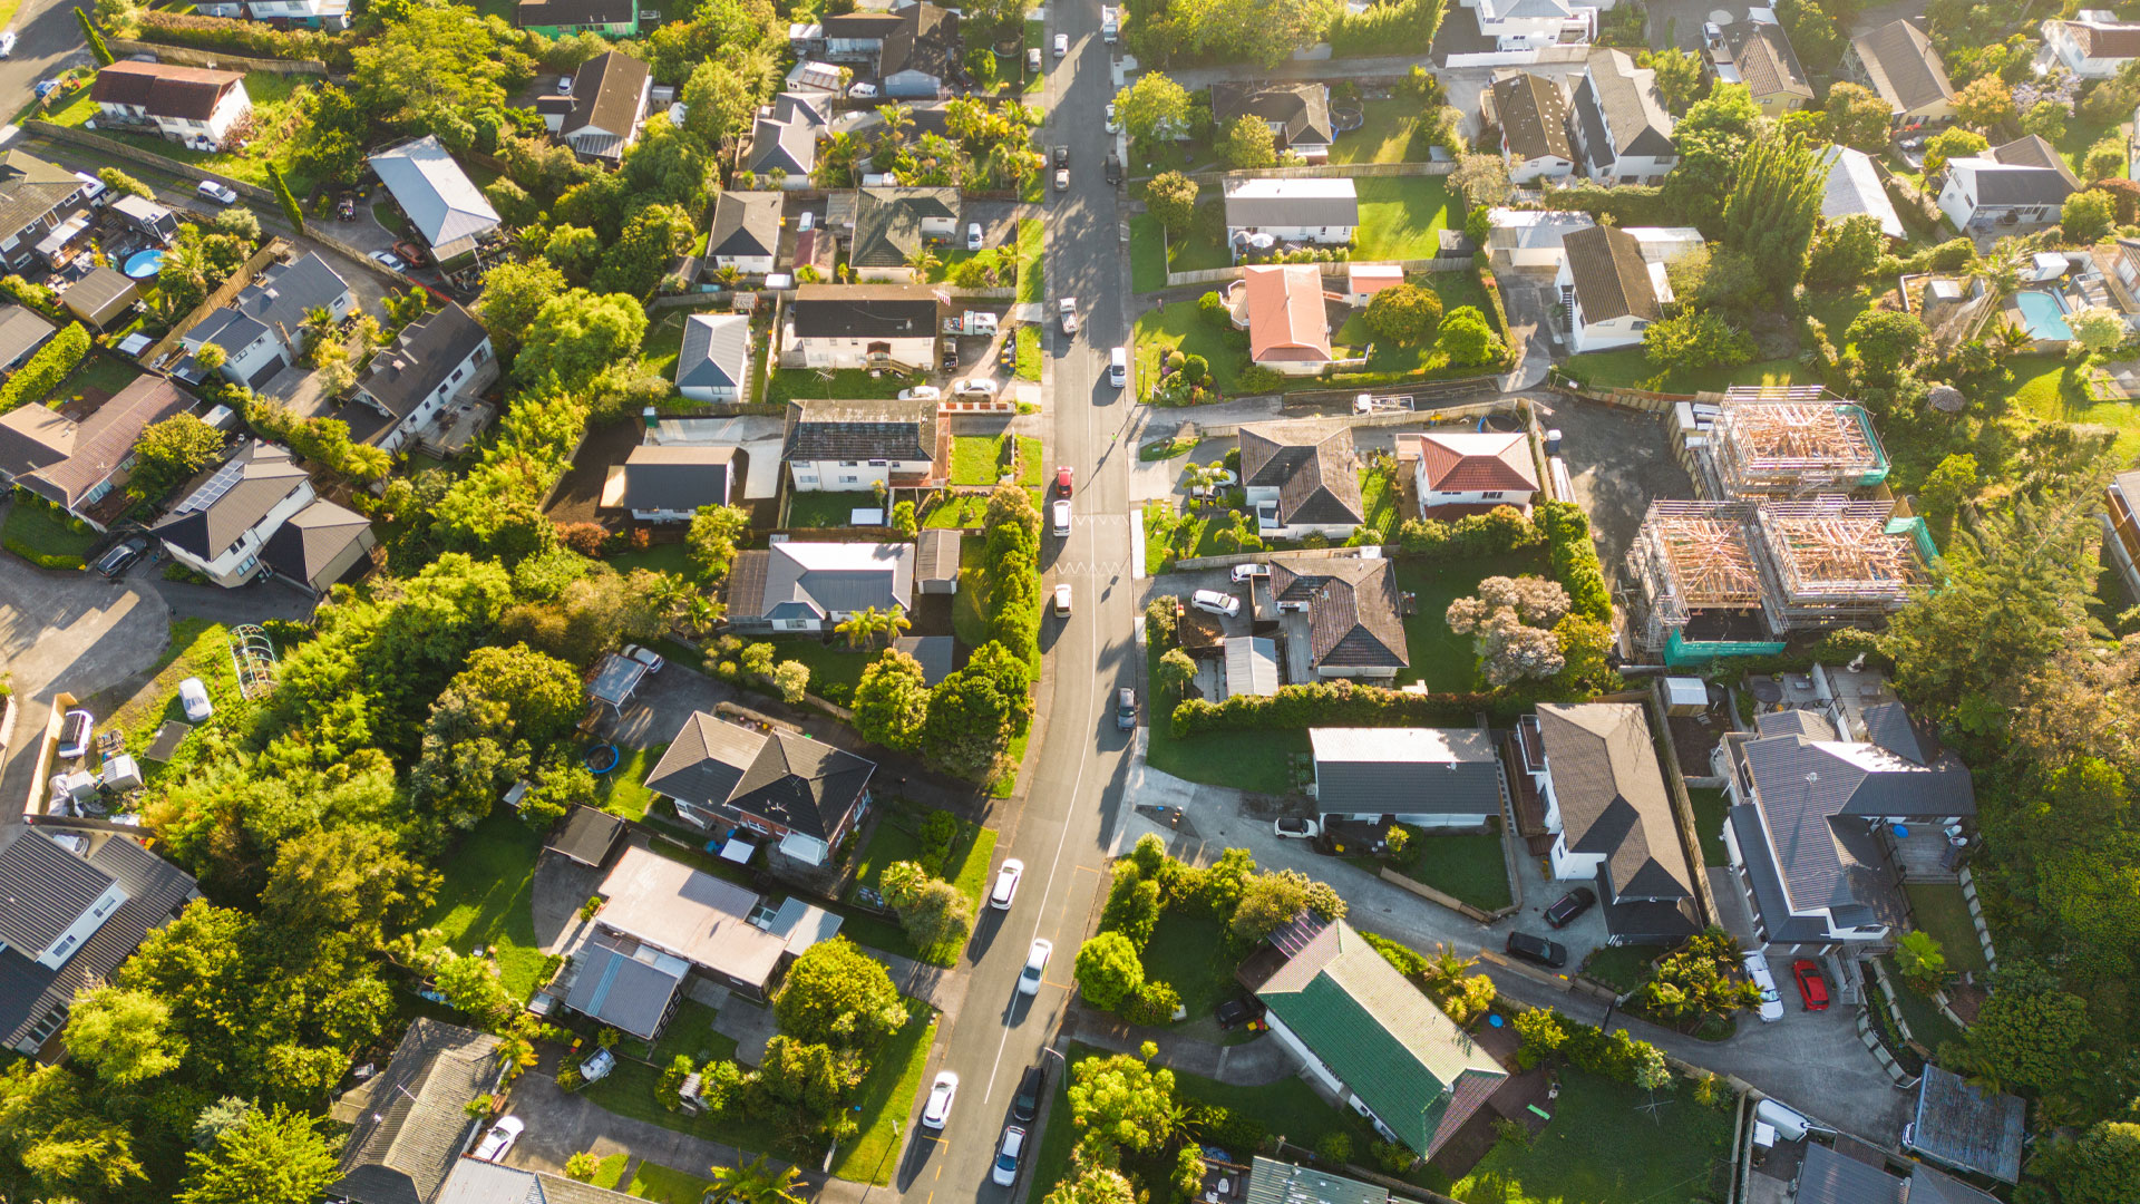
[[[1494,1146],[1449,1195],[1464,1204],[1723,1200],[1731,1114],[1695,1103],[1688,1088],[1658,1097],[1669,1103],[1637,1112],[1650,1093],[1564,1069],[1552,1125],[1528,1146]]]

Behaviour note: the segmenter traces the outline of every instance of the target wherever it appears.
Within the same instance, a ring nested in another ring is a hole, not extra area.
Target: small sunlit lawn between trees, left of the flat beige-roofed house
[[[514,998],[526,998],[548,977],[550,960],[535,940],[535,913],[529,910],[539,855],[539,831],[509,812],[492,814],[441,859],[445,881],[424,923],[458,953],[488,945]]]

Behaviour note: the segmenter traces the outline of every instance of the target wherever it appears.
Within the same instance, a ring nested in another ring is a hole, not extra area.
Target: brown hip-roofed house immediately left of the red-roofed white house
[[[1241,426],[1241,488],[1267,540],[1320,533],[1344,542],[1367,521],[1352,428],[1344,422],[1310,418]]]

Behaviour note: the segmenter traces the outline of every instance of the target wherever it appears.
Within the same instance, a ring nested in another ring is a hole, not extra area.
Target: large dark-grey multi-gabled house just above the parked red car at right
[[[1772,947],[1885,949],[1907,917],[1896,827],[1977,814],[1969,769],[1900,703],[1864,707],[1851,735],[1821,711],[1770,711],[1714,754],[1731,784],[1725,853]]]

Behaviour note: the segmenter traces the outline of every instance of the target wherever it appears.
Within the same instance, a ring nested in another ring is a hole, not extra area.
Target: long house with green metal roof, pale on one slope
[[[1342,919],[1303,913],[1239,979],[1316,1082],[1421,1157],[1440,1153],[1509,1078]]]

